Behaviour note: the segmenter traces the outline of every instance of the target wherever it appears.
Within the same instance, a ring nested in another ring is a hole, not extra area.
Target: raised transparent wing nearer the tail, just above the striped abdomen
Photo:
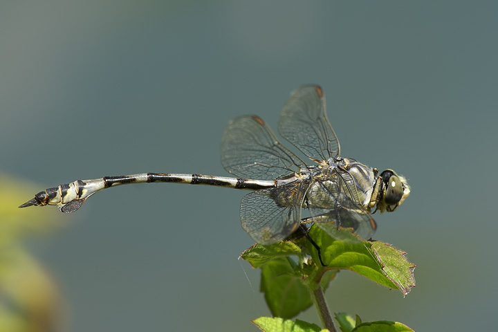
[[[221,138],[221,163],[236,176],[261,180],[297,172],[304,165],[258,116],[240,116],[228,122]]]

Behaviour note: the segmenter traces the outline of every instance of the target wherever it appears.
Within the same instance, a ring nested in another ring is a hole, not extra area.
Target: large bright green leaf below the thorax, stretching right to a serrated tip
[[[351,270],[383,286],[398,288],[403,295],[406,295],[409,288],[415,284],[414,265],[407,261],[405,252],[387,243],[378,241],[346,243],[333,239],[317,227],[312,227],[309,235],[320,247],[325,268]],[[371,246],[374,246],[375,251],[371,250]],[[311,243],[308,245],[308,250],[313,260],[319,261],[318,252]]]

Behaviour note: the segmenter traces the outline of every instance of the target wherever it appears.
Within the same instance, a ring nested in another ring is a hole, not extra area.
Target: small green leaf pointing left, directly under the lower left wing
[[[269,246],[256,243],[248,250],[242,252],[239,258],[248,261],[253,268],[259,268],[268,261],[278,257],[300,255],[301,248],[290,241],[280,241]]]

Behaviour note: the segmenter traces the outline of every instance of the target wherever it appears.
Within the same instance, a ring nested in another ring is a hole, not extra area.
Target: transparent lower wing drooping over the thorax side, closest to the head
[[[351,175],[341,172],[325,181],[313,182],[306,194],[308,208],[316,225],[331,237],[347,242],[363,241],[374,235],[377,224],[358,202],[350,181],[353,181]]]

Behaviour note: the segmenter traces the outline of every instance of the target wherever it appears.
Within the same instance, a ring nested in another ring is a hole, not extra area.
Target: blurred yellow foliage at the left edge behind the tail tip
[[[37,190],[0,174],[0,331],[58,331],[57,288],[21,241],[60,225],[57,210],[17,208]]]

